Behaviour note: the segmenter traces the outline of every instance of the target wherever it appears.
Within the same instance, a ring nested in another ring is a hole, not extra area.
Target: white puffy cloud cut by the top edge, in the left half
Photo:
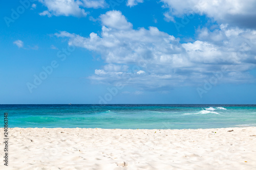
[[[104,0],[92,1],[92,0],[39,0],[48,10],[39,13],[40,15],[55,16],[87,16],[87,12],[82,9],[86,8],[105,8],[108,5]]]

